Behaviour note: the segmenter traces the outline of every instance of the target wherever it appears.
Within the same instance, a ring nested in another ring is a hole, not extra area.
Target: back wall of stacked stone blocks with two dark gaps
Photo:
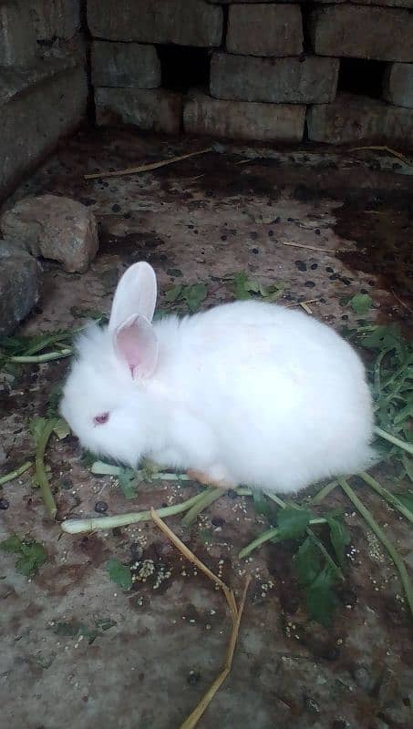
[[[88,0],[88,28],[98,124],[413,146],[413,0]]]

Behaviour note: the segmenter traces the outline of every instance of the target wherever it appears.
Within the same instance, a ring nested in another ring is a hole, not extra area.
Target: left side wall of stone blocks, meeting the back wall
[[[0,0],[0,200],[86,114],[79,0]]]

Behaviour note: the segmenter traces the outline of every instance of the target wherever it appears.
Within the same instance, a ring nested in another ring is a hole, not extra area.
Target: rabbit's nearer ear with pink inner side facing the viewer
[[[150,377],[158,362],[158,339],[148,319],[139,314],[130,316],[113,332],[113,345],[133,379]]]

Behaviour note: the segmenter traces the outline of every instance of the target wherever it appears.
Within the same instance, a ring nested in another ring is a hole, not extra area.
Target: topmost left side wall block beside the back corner
[[[30,9],[37,40],[69,40],[80,29],[80,0],[30,0]]]

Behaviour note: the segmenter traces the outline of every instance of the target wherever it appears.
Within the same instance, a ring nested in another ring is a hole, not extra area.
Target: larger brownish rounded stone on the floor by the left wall
[[[87,271],[98,252],[98,225],[77,200],[41,195],[25,198],[0,220],[6,238],[32,255],[63,263],[69,273]]]

